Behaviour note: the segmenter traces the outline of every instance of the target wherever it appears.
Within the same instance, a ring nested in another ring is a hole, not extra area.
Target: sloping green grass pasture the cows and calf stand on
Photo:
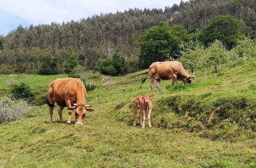
[[[90,73],[97,90],[88,92],[87,103],[95,111],[84,124],[75,125],[74,115],[72,124],[59,122],[56,113],[50,124],[48,107],[34,107],[35,117],[0,125],[0,167],[254,167],[255,67],[252,60],[199,73],[192,85],[162,81],[161,93],[150,92],[148,79],[140,85],[147,70],[122,77]],[[55,77],[26,81],[39,92]],[[6,76],[0,78],[8,89]],[[142,94],[154,94],[151,129],[147,121],[145,129],[132,126],[134,99]]]

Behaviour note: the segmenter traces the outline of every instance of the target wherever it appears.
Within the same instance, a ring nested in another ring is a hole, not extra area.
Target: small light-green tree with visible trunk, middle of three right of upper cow
[[[227,50],[223,46],[222,42],[215,40],[206,49],[205,64],[207,66],[214,66],[215,72],[217,73],[217,66],[226,63],[227,55]]]

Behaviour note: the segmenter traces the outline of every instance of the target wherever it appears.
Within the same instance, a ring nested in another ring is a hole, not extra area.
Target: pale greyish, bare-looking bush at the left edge
[[[10,96],[0,97],[0,124],[25,118],[31,106],[24,100],[13,100]]]

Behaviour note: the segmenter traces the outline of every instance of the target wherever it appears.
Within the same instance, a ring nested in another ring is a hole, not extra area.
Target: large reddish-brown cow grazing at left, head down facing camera
[[[49,84],[47,104],[50,106],[50,123],[53,122],[52,114],[54,103],[59,106],[59,119],[62,121],[62,110],[68,108],[67,123],[71,123],[72,110],[76,109],[76,124],[82,124],[86,110],[93,111],[90,105],[86,105],[86,88],[78,78],[58,78]]]

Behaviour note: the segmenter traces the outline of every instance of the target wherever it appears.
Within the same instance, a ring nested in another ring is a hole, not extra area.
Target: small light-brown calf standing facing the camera
[[[147,120],[148,120],[148,127],[151,126],[151,111],[152,111],[152,102],[150,99],[153,98],[153,95],[144,95],[144,96],[137,96],[135,99],[134,104],[134,114],[133,114],[133,126],[136,126],[136,116],[137,110],[140,108],[140,126],[145,128],[145,114],[147,113]]]

